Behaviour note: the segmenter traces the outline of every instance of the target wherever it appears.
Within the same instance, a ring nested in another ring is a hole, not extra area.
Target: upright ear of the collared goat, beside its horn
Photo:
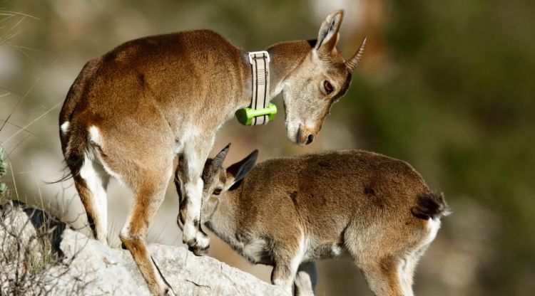
[[[325,18],[320,28],[320,33],[317,34],[315,50],[318,53],[328,55],[335,48],[340,38],[338,31],[343,18],[343,10],[333,11]]]

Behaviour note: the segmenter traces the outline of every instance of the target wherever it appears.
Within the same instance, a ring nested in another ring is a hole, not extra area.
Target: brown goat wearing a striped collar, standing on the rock
[[[146,233],[174,157],[184,162],[183,241],[200,254],[209,245],[199,223],[200,174],[216,132],[237,110],[252,106],[253,97],[270,102],[282,93],[287,137],[310,144],[349,88],[364,51],[362,43],[348,60],[338,51],[343,15],[327,16],[317,39],[277,43],[261,60],[218,33],[195,30],[128,41],[83,67],[59,115],[63,156],[103,244],[108,181],[113,176],[131,187],[134,199],[119,238],[153,295],[173,295],[151,260]]]

